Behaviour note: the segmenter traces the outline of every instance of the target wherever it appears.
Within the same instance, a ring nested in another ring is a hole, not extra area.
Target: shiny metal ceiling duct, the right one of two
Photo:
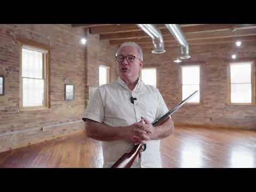
[[[179,25],[177,24],[165,24],[165,27],[170,30],[173,37],[180,44],[181,56],[180,59],[189,59],[188,43],[183,35]]]

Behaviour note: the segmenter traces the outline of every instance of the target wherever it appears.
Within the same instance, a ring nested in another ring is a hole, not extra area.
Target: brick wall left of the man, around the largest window
[[[5,95],[0,97],[0,151],[84,129],[83,122],[72,123],[81,119],[86,107],[87,55],[86,46],[80,43],[83,35],[84,30],[71,25],[0,25],[0,75],[5,76]],[[19,110],[18,38],[51,47],[50,109]],[[65,84],[75,85],[74,101],[64,100]],[[39,130],[41,127],[45,129]]]

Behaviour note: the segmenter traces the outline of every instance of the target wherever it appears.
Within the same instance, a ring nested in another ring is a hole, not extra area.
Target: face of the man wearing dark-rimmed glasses
[[[139,57],[138,51],[133,46],[124,46],[119,50],[117,56],[122,55],[126,57],[127,55],[135,56],[136,58],[132,62],[127,62],[125,58],[122,62],[118,62],[118,73],[121,78],[137,78],[139,71],[143,66],[143,63]],[[139,59],[138,59],[139,58]]]

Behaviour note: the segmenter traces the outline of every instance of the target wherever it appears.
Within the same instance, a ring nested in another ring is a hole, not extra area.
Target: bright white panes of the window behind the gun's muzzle
[[[198,93],[191,98],[188,103],[200,102],[200,66],[190,65],[181,66],[182,77],[182,100],[186,99],[190,94],[198,91]]]

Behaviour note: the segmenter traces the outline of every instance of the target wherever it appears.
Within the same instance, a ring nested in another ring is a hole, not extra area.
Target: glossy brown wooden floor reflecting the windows
[[[256,167],[256,131],[175,127],[161,141],[163,167]],[[102,167],[84,133],[0,153],[0,167]]]

